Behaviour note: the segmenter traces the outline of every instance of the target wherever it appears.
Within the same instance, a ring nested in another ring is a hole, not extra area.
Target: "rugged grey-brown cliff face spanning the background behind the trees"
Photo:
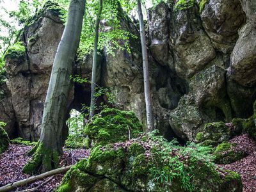
[[[179,10],[159,3],[148,10],[148,60],[154,124],[166,138],[194,140],[208,122],[248,118],[256,99],[256,4],[253,0],[195,1]],[[174,7],[173,7],[174,6]],[[56,11],[57,10],[57,11]],[[145,122],[139,29],[122,13],[131,52],[105,49],[97,83],[113,89],[119,109]],[[106,28],[111,28],[105,26]],[[0,120],[24,138],[38,138],[54,54],[63,31],[58,9],[24,29],[26,56],[6,59],[8,81],[1,85]],[[122,43],[122,42],[121,42]],[[77,61],[74,74],[90,79],[92,55]],[[3,95],[3,97],[1,96]],[[70,102],[72,99],[70,99]],[[72,108],[90,103],[90,84],[75,84]],[[16,128],[15,128],[16,127]]]

